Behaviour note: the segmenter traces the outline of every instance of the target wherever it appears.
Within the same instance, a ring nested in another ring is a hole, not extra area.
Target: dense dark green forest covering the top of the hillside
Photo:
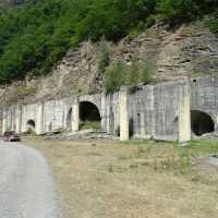
[[[32,0],[1,10],[0,83],[48,73],[82,40],[118,41],[161,17],[170,25],[217,10],[215,0]],[[217,32],[217,19],[210,22]],[[99,63],[105,64],[105,61]],[[120,68],[120,66],[118,66]]]

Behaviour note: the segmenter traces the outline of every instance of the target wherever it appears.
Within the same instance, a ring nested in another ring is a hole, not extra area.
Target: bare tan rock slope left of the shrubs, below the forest
[[[15,101],[34,102],[39,99],[70,97],[97,90],[96,46],[83,43],[70,50],[47,76],[26,77],[0,89],[0,100],[5,105]],[[95,90],[94,90],[95,88]]]

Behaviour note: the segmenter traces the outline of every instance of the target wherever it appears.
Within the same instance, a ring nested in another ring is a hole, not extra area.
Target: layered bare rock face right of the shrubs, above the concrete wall
[[[114,59],[152,59],[157,82],[218,72],[218,37],[202,23],[174,32],[155,26],[132,41],[121,41],[117,49]]]

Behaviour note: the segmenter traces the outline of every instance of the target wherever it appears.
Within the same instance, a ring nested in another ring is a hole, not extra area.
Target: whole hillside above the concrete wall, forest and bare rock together
[[[0,14],[1,101],[217,73],[217,34],[214,0],[29,0]]]

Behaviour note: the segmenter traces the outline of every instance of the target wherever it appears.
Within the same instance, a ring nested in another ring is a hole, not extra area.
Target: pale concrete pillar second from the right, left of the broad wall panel
[[[130,140],[130,123],[129,123],[129,92],[126,87],[120,89],[120,141]]]

